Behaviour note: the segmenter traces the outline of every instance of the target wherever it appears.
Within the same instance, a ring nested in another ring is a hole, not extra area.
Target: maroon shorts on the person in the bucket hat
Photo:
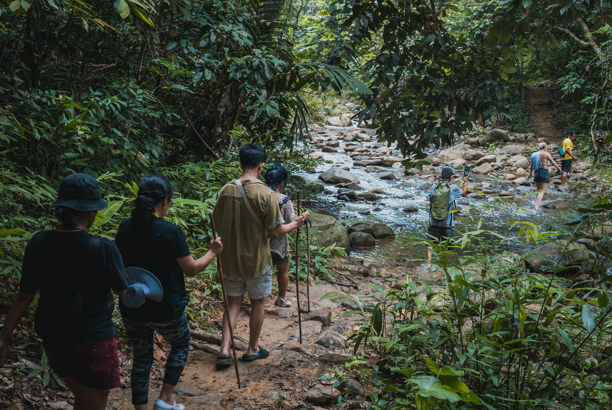
[[[45,351],[51,368],[61,378],[74,373],[76,381],[91,389],[121,386],[115,336]]]

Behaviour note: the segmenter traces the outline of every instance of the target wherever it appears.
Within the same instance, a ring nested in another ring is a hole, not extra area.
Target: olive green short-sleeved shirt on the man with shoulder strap
[[[223,277],[228,280],[255,278],[272,271],[267,231],[283,222],[274,191],[259,179],[244,179],[241,182],[253,211],[266,230],[261,229],[248,212],[236,181],[225,184],[219,193],[213,216],[217,234],[223,242],[223,251],[219,254]]]

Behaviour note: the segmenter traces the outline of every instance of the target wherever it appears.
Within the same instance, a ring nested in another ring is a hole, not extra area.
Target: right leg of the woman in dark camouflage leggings
[[[167,404],[173,404],[174,386],[179,382],[189,354],[191,341],[189,322],[183,314],[171,322],[155,323],[152,326],[171,346],[168,360],[166,360],[166,371],[163,375],[162,392],[159,398]]]

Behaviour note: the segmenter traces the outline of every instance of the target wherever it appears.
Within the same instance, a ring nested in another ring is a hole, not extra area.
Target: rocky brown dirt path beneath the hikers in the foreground
[[[357,277],[353,277],[357,281]],[[367,283],[378,283],[385,286],[385,280],[378,278],[363,278]],[[360,283],[359,289],[351,288],[353,293],[369,294],[372,289],[365,287],[365,281]],[[388,284],[387,284],[388,285]],[[300,293],[303,289],[300,284]],[[293,307],[289,308],[293,316],[282,318],[282,310],[274,306],[274,298],[269,297],[266,302],[266,318],[261,332],[260,344],[270,351],[270,357],[253,363],[239,362],[242,389],[237,389],[234,367],[215,371],[215,351],[218,346],[202,343],[193,339],[194,349],[190,352],[187,366],[181,381],[175,389],[176,400],[185,404],[188,409],[293,409],[327,408],[324,404],[307,404],[304,393],[310,387],[319,384],[321,374],[328,373],[335,363],[341,362],[344,352],[342,349],[324,348],[313,343],[321,331],[308,332],[302,314],[302,327],[305,344],[299,345],[297,336],[297,302],[295,285],[289,293]],[[343,290],[347,288],[343,287]],[[340,286],[325,281],[313,280],[310,288],[311,304],[318,309],[332,311],[332,323],[340,324],[346,330],[353,329],[353,323],[346,319],[338,319],[341,313],[347,311],[339,302],[322,299],[324,294],[332,291],[341,291]],[[306,299],[300,294],[300,300]],[[248,302],[242,306],[238,317],[235,334],[248,340]],[[323,327],[323,331],[326,327]],[[237,356],[242,352],[237,351]],[[163,365],[163,364],[162,364]],[[156,369],[157,368],[157,369]],[[163,373],[160,366],[154,365],[151,371],[151,385],[149,388],[149,408],[159,395]],[[129,378],[129,372],[124,371]],[[133,409],[129,388],[120,388],[111,392],[109,397],[110,409]],[[323,406],[323,407],[318,407]]]

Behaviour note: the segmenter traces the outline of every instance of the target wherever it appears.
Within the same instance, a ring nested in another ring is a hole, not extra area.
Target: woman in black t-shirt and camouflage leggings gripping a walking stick
[[[125,332],[134,354],[132,366],[132,404],[146,410],[149,401],[149,373],[153,364],[153,332],[170,343],[162,391],[154,410],[184,409],[173,400],[173,390],[187,363],[191,340],[185,306],[189,294],[185,275],[200,273],[223,249],[221,237],[211,240],[209,251],[194,259],[179,226],[164,219],[172,206],[174,188],[162,175],[149,175],[138,185],[132,203],[132,217],[119,225],[116,244],[125,266],[151,272],[162,285],[163,297],[156,301],[141,297],[119,302]],[[128,306],[129,305],[129,306]]]

